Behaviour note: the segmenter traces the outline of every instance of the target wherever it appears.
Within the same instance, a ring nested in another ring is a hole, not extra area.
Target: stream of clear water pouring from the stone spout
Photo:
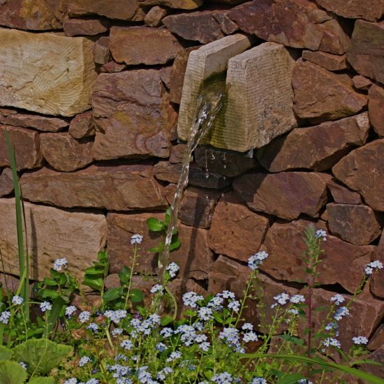
[[[186,149],[182,161],[182,172],[177,182],[177,189],[173,196],[170,221],[168,224],[168,232],[165,237],[164,249],[158,258],[158,282],[163,283],[166,267],[169,263],[170,244],[172,235],[177,228],[177,215],[179,213],[180,202],[182,201],[184,190],[188,185],[189,164],[191,163],[192,153],[197,147],[205,133],[209,131],[215,117],[221,110],[224,101],[225,82],[214,79],[202,89],[202,93],[198,98],[198,108],[196,108],[196,117],[189,133],[186,143]]]

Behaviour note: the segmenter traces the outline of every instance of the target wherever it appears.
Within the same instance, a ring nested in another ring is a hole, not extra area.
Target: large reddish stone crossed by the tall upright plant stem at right
[[[260,269],[279,280],[305,279],[302,252],[306,246],[302,237],[310,224],[307,220],[272,224],[262,246],[262,249],[269,253],[269,258]],[[315,223],[315,226],[326,229],[321,221]],[[356,246],[332,235],[327,236],[327,241],[323,242],[322,247],[324,253],[320,256],[323,261],[317,269],[318,282],[339,283],[348,292],[354,292],[364,276],[364,266],[369,263],[376,247]]]

